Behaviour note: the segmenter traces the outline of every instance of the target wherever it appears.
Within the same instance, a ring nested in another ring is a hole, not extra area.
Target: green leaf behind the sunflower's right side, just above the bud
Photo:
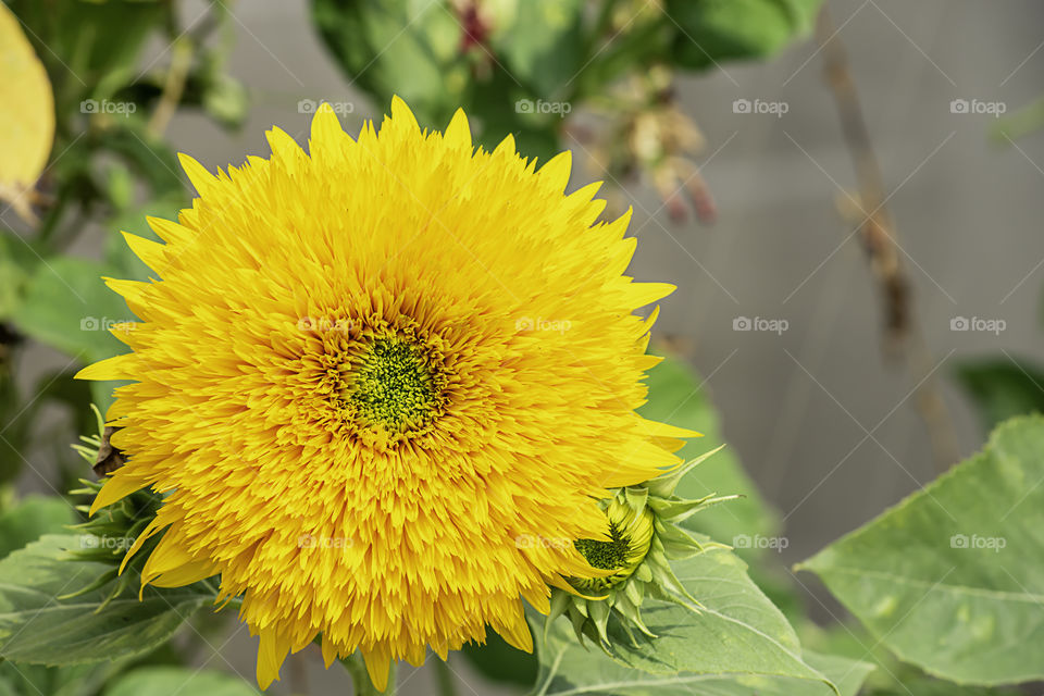
[[[685,363],[676,358],[664,358],[649,372],[646,384],[649,387],[648,403],[639,410],[642,415],[704,434],[691,439],[679,452],[681,457],[694,459],[724,443],[707,393]],[[774,534],[778,526],[775,515],[767,508],[734,450],[729,447],[686,474],[676,492],[681,498],[701,498],[710,493],[742,495],[743,498],[705,510],[686,520],[685,526],[724,544],[732,544],[739,535]],[[755,550],[741,549],[739,554],[749,559]]]

